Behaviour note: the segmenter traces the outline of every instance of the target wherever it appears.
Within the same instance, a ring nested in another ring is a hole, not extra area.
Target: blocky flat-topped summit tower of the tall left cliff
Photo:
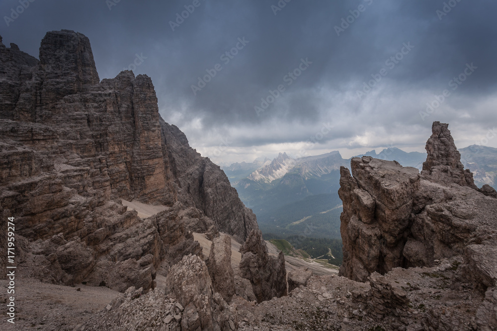
[[[41,41],[40,64],[50,76],[76,76],[76,85],[100,82],[90,42],[79,32],[47,32]]]

